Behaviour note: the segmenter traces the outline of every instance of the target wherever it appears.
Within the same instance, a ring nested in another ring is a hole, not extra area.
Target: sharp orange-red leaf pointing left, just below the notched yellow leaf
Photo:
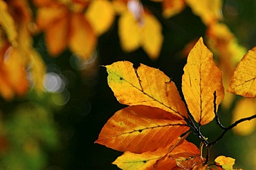
[[[162,109],[137,105],[117,111],[95,142],[118,151],[143,153],[166,147],[188,129],[184,120]]]

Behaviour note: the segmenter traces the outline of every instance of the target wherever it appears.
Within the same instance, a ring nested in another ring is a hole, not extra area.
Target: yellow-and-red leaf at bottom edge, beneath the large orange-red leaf
[[[179,167],[176,164],[176,160],[171,156],[183,156],[184,158],[190,158],[199,154],[199,149],[191,142],[183,140],[179,143],[180,147],[177,147],[177,142],[181,141],[181,138],[176,138],[170,145],[165,148],[158,148],[156,151],[147,151],[144,153],[131,153],[125,152],[122,156],[118,157],[112,164],[116,164],[120,169],[172,169]],[[174,146],[174,147],[173,147]],[[170,148],[173,148],[170,151]],[[188,149],[188,150],[185,150]],[[172,152],[174,154],[172,155]],[[170,157],[168,157],[168,156]],[[159,161],[161,160],[161,161]]]

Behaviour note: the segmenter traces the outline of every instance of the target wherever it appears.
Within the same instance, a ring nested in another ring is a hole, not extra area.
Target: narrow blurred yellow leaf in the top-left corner
[[[18,36],[15,21],[8,13],[8,6],[3,0],[0,0],[0,25],[2,25],[3,29],[6,31],[10,43],[15,46]]]

